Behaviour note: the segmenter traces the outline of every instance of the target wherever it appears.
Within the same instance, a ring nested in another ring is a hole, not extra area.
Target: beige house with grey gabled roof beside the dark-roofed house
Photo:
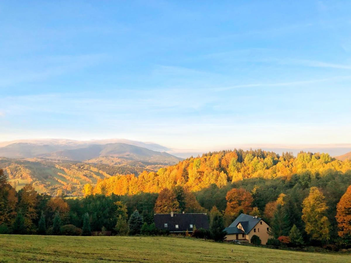
[[[266,244],[268,238],[271,238],[269,231],[270,227],[257,216],[241,214],[224,229],[227,232],[226,240],[239,240],[241,242],[250,242],[253,235],[259,236],[262,244]]]

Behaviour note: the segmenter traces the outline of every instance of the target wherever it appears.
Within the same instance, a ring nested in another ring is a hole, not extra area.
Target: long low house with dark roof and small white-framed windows
[[[154,214],[155,226],[158,229],[171,233],[181,233],[188,230],[189,233],[196,227],[208,229],[208,218],[205,213],[186,214]]]

